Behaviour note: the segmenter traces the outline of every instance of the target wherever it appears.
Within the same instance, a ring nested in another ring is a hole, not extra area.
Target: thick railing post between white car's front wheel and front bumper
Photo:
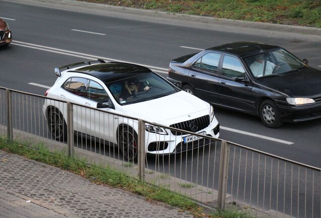
[[[145,180],[145,121],[138,119],[138,177]]]

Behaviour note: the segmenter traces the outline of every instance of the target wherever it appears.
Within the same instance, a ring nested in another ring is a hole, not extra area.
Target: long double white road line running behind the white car
[[[22,42],[22,41],[16,41],[16,40],[13,40],[12,44],[24,46],[24,47],[29,47],[29,48],[34,48],[34,49],[39,49],[39,50],[45,50],[45,51],[54,52],[54,53],[60,53],[62,55],[69,55],[69,56],[74,56],[74,57],[79,57],[79,58],[84,58],[84,59],[90,59],[90,60],[103,59],[106,61],[126,62],[126,61],[122,61],[122,60],[111,59],[111,58],[100,57],[100,56],[93,56],[93,55],[88,55],[86,53],[80,53],[80,52],[75,52],[75,51],[70,51],[70,50],[64,50],[64,49],[59,49],[59,48],[54,48],[54,47],[48,47],[48,46],[37,45],[37,44],[32,44],[32,43],[27,43],[27,42]],[[71,54],[75,54],[75,55],[71,55]],[[157,71],[159,73],[166,73],[167,74],[167,72],[168,72],[167,68],[154,67],[154,66],[150,66],[150,65],[143,65],[143,64],[139,64],[139,63],[133,63],[133,62],[126,62],[126,63],[137,64],[137,65],[144,66],[147,68],[157,69],[157,70],[159,70],[159,71]]]

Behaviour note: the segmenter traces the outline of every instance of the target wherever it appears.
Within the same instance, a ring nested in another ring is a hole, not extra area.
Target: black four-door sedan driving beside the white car
[[[321,118],[321,71],[307,62],[280,46],[234,42],[172,60],[168,80],[277,128]]]

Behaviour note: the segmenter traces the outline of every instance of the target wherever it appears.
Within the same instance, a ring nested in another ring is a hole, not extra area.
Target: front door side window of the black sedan
[[[224,56],[223,66],[222,66],[222,75],[235,78],[238,75],[243,75],[245,70],[237,58],[231,56]]]

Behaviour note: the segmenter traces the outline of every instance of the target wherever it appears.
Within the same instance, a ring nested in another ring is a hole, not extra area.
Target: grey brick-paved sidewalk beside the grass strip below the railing
[[[0,150],[0,217],[193,216]]]

